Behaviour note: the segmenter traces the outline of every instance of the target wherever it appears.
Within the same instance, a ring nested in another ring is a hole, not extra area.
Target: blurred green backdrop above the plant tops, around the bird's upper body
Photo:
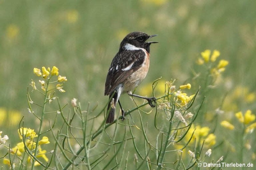
[[[229,65],[212,97],[237,86],[255,92],[255,9],[255,0],[0,0],[0,131],[17,133],[14,113],[35,127],[26,99],[31,79],[38,81],[34,67],[56,66],[67,77],[66,92],[58,94],[62,103],[75,97],[84,108],[91,102],[100,110],[108,100],[104,85],[112,58],[132,31],[158,34],[159,42],[151,46],[151,67],[138,91],[159,77],[182,84],[200,53],[217,49]],[[127,95],[121,101],[134,107]],[[238,103],[234,112],[256,112],[255,100]]]

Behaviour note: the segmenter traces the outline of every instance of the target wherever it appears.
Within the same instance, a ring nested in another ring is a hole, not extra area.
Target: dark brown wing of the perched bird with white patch
[[[109,95],[117,85],[123,83],[138,70],[145,60],[143,50],[124,50],[113,58],[105,83],[105,95]]]

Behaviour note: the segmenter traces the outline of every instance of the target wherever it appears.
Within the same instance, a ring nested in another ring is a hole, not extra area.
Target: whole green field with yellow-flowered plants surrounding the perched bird
[[[0,4],[2,169],[255,165],[255,1]],[[159,35],[135,91],[157,107],[123,95],[126,119],[105,125],[106,71],[132,31]]]

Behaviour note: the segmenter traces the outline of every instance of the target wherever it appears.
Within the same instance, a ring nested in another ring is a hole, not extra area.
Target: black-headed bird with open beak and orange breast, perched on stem
[[[148,98],[132,93],[148,73],[150,45],[158,42],[146,41],[155,36],[157,35],[148,35],[144,32],[136,31],[127,34],[122,40],[119,51],[113,58],[106,77],[104,95],[109,95],[106,123],[114,122],[117,102],[122,111],[122,120],[125,119],[125,111],[119,100],[122,93],[144,98],[151,107],[155,107],[155,97]]]

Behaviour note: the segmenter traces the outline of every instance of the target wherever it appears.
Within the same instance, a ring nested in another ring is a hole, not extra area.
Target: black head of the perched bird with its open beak
[[[145,49],[148,53],[150,52],[150,44],[152,43],[158,43],[158,42],[146,42],[147,39],[151,38],[151,37],[155,37],[157,35],[148,35],[146,33],[143,32],[132,32],[127,34],[127,36],[125,36],[125,38],[123,39],[123,41],[120,44],[120,50],[126,49],[126,45],[130,44],[133,45],[137,48],[143,48]]]

